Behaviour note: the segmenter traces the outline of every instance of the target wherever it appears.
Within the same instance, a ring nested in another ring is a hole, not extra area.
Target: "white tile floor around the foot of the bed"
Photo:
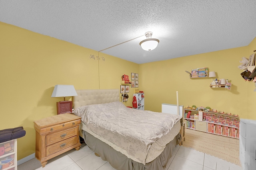
[[[20,164],[18,170],[115,170],[107,161],[94,155],[87,145],[72,149],[48,161],[42,168],[34,158]],[[242,170],[240,166],[222,159],[177,145],[165,170]]]

